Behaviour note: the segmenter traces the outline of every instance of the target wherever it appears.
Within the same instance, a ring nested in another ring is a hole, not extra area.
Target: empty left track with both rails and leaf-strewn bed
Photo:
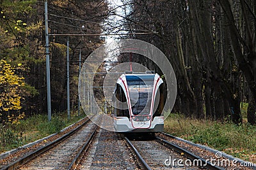
[[[100,121],[100,117],[93,119]],[[97,132],[98,126],[93,122],[86,120],[61,138],[1,169],[74,169]]]

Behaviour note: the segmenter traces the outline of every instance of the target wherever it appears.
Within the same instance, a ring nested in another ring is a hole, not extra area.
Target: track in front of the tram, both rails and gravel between
[[[223,169],[159,137],[147,141],[124,139],[138,158],[141,169]]]

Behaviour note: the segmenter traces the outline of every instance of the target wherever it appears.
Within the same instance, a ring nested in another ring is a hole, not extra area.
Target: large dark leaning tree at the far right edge
[[[237,24],[235,20],[236,11],[232,10],[228,0],[218,0],[221,4],[221,8],[225,12],[227,17],[228,28],[230,31],[230,41],[234,54],[236,56],[239,69],[243,71],[244,77],[250,87],[252,98],[250,97],[250,107],[248,107],[248,122],[255,124],[255,109],[253,105],[256,103],[256,41],[255,41],[255,24],[256,24],[256,2],[255,1],[240,1],[241,18],[244,25]],[[251,8],[252,6],[252,8]],[[239,31],[239,26],[243,31]]]

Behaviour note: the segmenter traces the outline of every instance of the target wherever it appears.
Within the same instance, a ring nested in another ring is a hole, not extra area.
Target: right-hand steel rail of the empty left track
[[[102,117],[100,117],[99,124],[100,124],[101,121],[102,121]],[[74,159],[72,160],[72,162],[68,166],[68,169],[76,169],[77,165],[80,163],[80,160],[81,160],[81,157],[83,156],[83,153],[86,152],[89,149],[93,139],[95,138],[95,136],[97,134],[98,129],[99,129],[99,126],[96,125],[95,129],[93,130],[92,134],[90,135],[90,138],[84,143],[81,150],[79,150],[79,152],[77,153],[76,157],[74,157]]]

